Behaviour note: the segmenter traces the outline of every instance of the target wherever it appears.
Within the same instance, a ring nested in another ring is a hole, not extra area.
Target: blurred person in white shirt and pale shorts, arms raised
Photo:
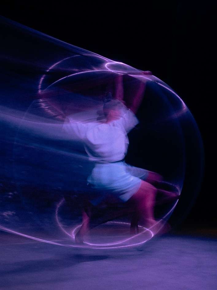
[[[108,196],[114,197],[122,203],[130,203],[134,206],[135,214],[131,222],[131,230],[140,221],[150,228],[156,224],[154,218],[154,204],[157,189],[154,182],[162,177],[145,169],[126,164],[124,158],[127,153],[129,139],[127,134],[137,124],[138,119],[134,112],[127,108],[122,99],[122,79],[118,76],[116,99],[111,93],[104,99],[104,119],[92,122],[73,120],[69,116],[64,123],[64,129],[83,141],[89,160],[94,162],[94,168],[87,178],[87,182],[96,197],[90,196],[92,205],[99,205]],[[145,85],[142,83],[139,97],[134,98],[132,108],[134,110],[140,104],[139,98],[143,95]],[[83,224],[78,236],[82,237],[88,230],[90,213],[83,212]]]

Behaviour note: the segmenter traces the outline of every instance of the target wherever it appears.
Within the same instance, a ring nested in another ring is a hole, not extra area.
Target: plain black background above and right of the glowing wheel
[[[192,112],[203,139],[205,170],[182,227],[216,228],[214,6],[208,2],[131,2],[49,6],[3,4],[1,15],[75,46],[141,70],[170,85]],[[200,182],[200,181],[199,181]]]

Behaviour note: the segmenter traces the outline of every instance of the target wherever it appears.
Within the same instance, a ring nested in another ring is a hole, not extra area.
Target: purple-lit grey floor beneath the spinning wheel
[[[3,234],[0,280],[1,290],[216,290],[217,239],[170,234],[96,251]]]

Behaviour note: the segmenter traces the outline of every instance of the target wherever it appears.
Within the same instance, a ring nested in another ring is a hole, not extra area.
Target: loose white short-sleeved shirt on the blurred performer
[[[63,129],[73,140],[83,142],[89,160],[115,162],[124,159],[129,145],[127,133],[137,124],[134,113],[124,108],[119,119],[108,123],[77,121],[73,115],[68,116]]]

